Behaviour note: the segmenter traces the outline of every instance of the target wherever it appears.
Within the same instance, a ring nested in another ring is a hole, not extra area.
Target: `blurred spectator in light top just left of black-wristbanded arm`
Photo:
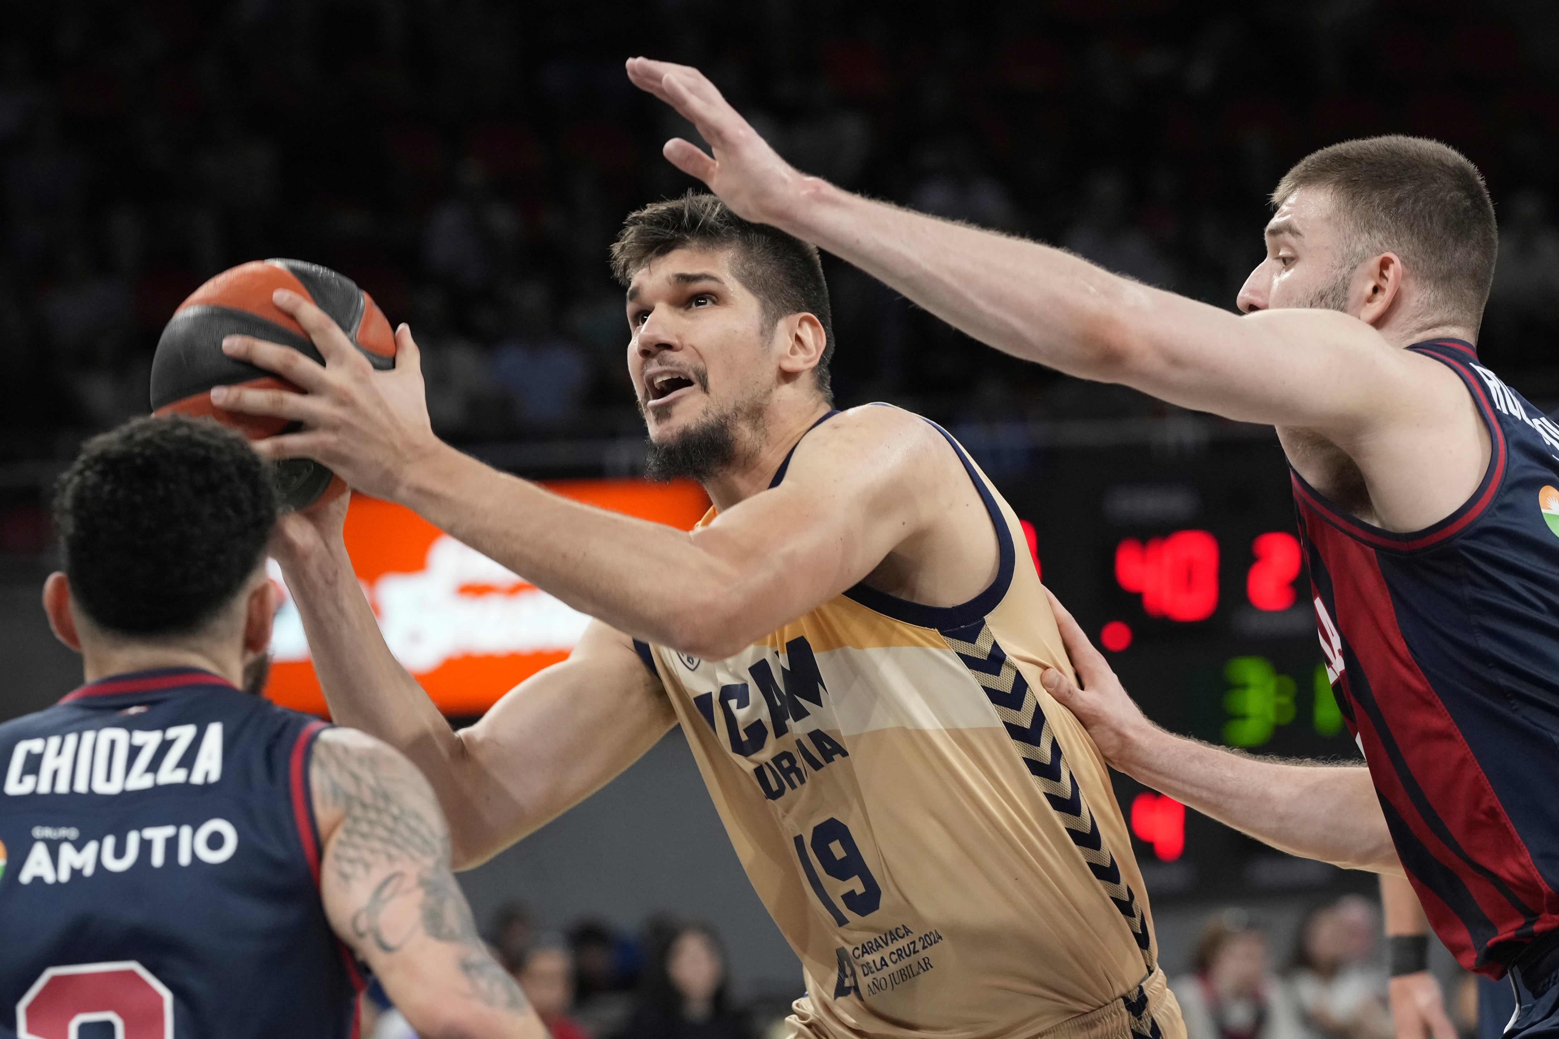
[[[1289,983],[1316,1039],[1389,1039],[1386,975],[1372,963],[1380,914],[1347,896],[1317,905],[1299,925]]]

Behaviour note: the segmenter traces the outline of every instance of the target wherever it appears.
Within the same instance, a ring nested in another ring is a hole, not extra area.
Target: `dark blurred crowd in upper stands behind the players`
[[[1306,151],[1462,148],[1503,245],[1486,360],[1559,393],[1559,83],[1531,0],[56,0],[3,5],[0,461],[147,408],[178,302],[334,266],[422,347],[457,442],[633,435],[606,248],[691,182],[628,55],[697,64],[800,168],[1232,307]],[[1547,72],[1545,72],[1547,70]],[[843,403],[1155,405],[971,347],[829,263]],[[1553,374],[1550,371],[1553,369]]]

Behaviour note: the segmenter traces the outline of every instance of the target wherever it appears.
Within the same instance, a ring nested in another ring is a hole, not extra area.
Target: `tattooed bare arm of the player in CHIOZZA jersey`
[[[412,763],[362,732],[331,729],[315,741],[309,779],[326,916],[416,1034],[546,1039],[477,935],[449,871],[444,819]]]

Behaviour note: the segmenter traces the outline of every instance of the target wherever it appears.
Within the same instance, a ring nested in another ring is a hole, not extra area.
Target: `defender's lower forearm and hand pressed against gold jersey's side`
[[[1402,875],[1366,768],[1277,762],[1165,732],[1054,595],[1051,609],[1082,689],[1055,668],[1040,682],[1077,715],[1112,766],[1291,855]]]

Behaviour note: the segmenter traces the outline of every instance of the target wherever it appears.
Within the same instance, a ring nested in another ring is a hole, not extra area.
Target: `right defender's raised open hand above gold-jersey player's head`
[[[673,167],[708,184],[736,215],[783,227],[795,203],[822,185],[781,159],[697,69],[630,58],[628,79],[677,109],[709,142],[714,157],[681,137],[667,140],[663,153]]]

